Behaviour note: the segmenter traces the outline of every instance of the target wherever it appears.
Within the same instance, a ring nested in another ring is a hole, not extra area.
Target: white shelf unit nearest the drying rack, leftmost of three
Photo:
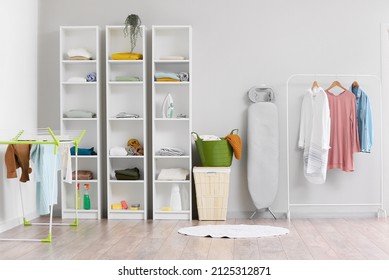
[[[93,172],[92,180],[78,180],[81,190],[81,209],[79,219],[101,218],[101,143],[100,143],[100,29],[98,26],[61,26],[60,27],[60,120],[61,133],[73,130],[85,130],[86,133],[79,144],[80,149],[93,150],[97,155],[78,155],[78,170]],[[91,55],[90,60],[71,60],[68,57],[70,49],[86,49]],[[86,78],[96,73],[96,81],[69,81],[70,78]],[[67,118],[64,113],[69,110],[87,110],[96,114],[92,118]],[[72,166],[75,166],[75,156],[72,156]],[[84,184],[90,184],[89,196],[91,208],[83,209]],[[61,184],[62,218],[74,218],[76,215],[75,182]]]

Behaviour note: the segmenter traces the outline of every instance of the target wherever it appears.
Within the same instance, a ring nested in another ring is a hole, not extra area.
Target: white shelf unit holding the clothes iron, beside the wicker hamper
[[[191,26],[152,26],[152,166],[153,219],[192,219],[192,28]],[[183,57],[182,60],[174,57]],[[163,59],[161,59],[164,57]],[[172,59],[166,59],[166,58]],[[154,79],[157,72],[189,74],[189,81],[166,82]],[[167,94],[174,101],[173,118],[164,118],[162,104]],[[178,118],[178,115],[185,117]],[[179,148],[183,156],[158,156],[161,148]],[[188,170],[186,180],[158,180],[163,169]],[[171,191],[178,185],[182,208],[170,205]]]

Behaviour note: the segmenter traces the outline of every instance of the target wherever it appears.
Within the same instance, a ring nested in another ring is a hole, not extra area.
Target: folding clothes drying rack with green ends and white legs
[[[25,135],[25,131],[21,130],[17,133],[15,137],[13,137],[11,140],[7,141],[0,141],[0,145],[20,145],[20,144],[31,144],[31,145],[54,145],[54,155],[57,154],[58,148],[61,144],[65,143],[72,143],[75,147],[75,201],[77,201],[77,184],[78,184],[78,148],[79,144],[85,134],[85,130],[81,131],[65,131],[64,134],[56,134],[53,130],[50,128],[45,129],[37,129],[36,132],[32,135]],[[68,160],[71,160],[68,159]],[[53,166],[53,175],[57,172],[57,166],[56,161],[54,161]],[[53,176],[53,182],[52,182],[52,192],[51,192],[51,202],[54,201],[54,188],[57,185],[57,182],[54,182],[54,179],[56,176]],[[62,180],[62,178],[61,178]],[[73,180],[72,180],[73,181]],[[20,200],[21,200],[21,207],[22,207],[22,215],[23,215],[23,225],[24,226],[33,226],[33,225],[48,225],[48,235],[46,238],[43,239],[34,239],[34,238],[0,238],[0,241],[35,241],[35,242],[47,242],[51,243],[52,241],[52,226],[78,226],[78,207],[77,203],[75,203],[75,219],[72,223],[53,223],[53,203],[50,204],[50,218],[49,222],[46,223],[33,223],[29,222],[27,218],[25,217],[24,213],[24,207],[23,207],[23,195],[22,195],[22,182],[19,181],[19,192],[20,192]]]

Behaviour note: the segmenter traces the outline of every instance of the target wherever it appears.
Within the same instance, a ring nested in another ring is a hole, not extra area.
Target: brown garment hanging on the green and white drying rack
[[[30,168],[30,144],[8,145],[5,152],[4,160],[7,167],[7,178],[16,178],[16,169],[22,168],[22,175],[20,182],[27,182],[30,180],[28,174],[31,173]]]

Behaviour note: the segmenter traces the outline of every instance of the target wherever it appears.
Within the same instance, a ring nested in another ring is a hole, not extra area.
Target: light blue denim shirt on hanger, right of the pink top
[[[373,120],[369,96],[359,87],[350,87],[356,97],[358,134],[361,152],[370,153],[373,145]]]

